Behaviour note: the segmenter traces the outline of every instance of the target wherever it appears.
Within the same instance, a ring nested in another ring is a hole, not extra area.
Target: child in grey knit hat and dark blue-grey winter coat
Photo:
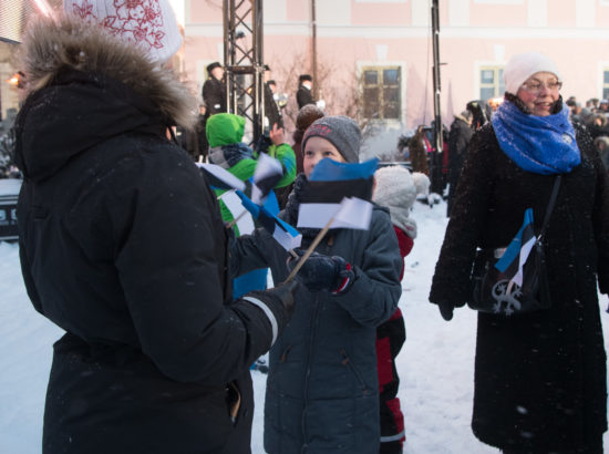
[[[322,158],[358,162],[360,130],[345,116],[324,116],[302,138],[303,168],[281,217],[297,224],[308,177]],[[320,229],[300,228],[302,248]],[[269,353],[265,450],[269,454],[379,452],[376,326],[402,292],[402,259],[386,208],[378,205],[368,230],[331,229],[298,272],[289,328]],[[282,282],[293,261],[265,230],[237,238],[234,274],[270,267]]]

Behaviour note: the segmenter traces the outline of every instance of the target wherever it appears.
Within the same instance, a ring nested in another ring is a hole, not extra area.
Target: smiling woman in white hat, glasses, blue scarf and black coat
[[[527,208],[543,244],[551,308],[478,313],[472,427],[505,453],[602,454],[607,376],[597,278],[609,292],[609,182],[586,131],[574,130],[547,56],[515,55],[504,103],[469,144],[430,301],[450,320],[471,301],[476,247],[504,248]]]

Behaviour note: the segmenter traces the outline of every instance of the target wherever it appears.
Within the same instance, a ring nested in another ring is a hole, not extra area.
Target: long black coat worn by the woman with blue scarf
[[[512,319],[478,314],[472,426],[494,446],[572,450],[599,442],[607,429],[597,275],[607,293],[609,186],[589,135],[578,130],[577,142],[581,164],[562,177],[545,239],[553,308]],[[430,300],[464,305],[476,246],[505,247],[526,208],[539,231],[554,179],[520,169],[491,124],[476,133]]]

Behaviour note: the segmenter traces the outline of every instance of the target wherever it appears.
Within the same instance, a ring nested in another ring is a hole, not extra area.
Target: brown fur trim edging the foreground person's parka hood
[[[168,124],[193,128],[197,100],[169,69],[140,49],[74,16],[37,18],[25,32],[20,69],[29,92],[53,83],[61,72],[105,74],[149,100]]]

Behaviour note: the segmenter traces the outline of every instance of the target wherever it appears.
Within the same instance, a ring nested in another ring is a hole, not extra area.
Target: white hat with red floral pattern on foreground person
[[[63,9],[166,62],[182,45],[168,0],[63,0]]]

